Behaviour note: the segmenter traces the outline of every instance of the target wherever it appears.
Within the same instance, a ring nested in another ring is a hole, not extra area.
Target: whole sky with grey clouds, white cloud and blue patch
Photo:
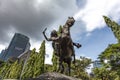
[[[68,16],[73,16],[76,22],[71,37],[82,44],[75,48],[76,57],[96,60],[108,44],[117,42],[102,16],[120,23],[119,14],[119,0],[0,0],[0,51],[8,47],[14,33],[28,36],[31,49],[38,50],[46,27],[49,37],[53,29],[58,30]],[[46,41],[46,63],[52,63],[52,50],[51,42]]]

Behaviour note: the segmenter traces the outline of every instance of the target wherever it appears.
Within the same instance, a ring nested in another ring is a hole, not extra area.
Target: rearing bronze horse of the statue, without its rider
[[[71,39],[70,28],[73,26],[74,22],[75,20],[73,17],[68,17],[68,20],[63,26],[61,32],[61,53],[59,58],[58,70],[61,70],[61,73],[64,72],[64,66],[62,63],[65,62],[68,64],[69,75],[71,74],[72,56],[74,57],[74,63],[75,63],[75,52],[73,46],[76,46],[77,48],[81,47],[79,43],[74,43]]]

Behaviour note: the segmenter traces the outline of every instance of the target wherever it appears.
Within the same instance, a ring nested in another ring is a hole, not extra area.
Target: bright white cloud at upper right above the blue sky
[[[84,9],[74,15],[75,19],[81,19],[86,23],[86,30],[93,31],[104,27],[103,15],[118,20],[120,13],[119,0],[88,0]]]

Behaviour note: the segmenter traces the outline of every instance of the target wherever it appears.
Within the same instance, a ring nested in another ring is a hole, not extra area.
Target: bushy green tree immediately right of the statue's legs
[[[86,69],[90,67],[91,59],[80,56],[80,59],[76,60],[75,66],[72,65],[72,76],[81,78],[83,80],[89,80],[89,76],[86,72]]]

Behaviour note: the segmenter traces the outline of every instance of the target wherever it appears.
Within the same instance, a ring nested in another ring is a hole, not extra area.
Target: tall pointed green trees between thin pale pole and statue
[[[25,66],[22,78],[35,78],[44,73],[45,41],[42,42],[39,52],[34,48]]]

